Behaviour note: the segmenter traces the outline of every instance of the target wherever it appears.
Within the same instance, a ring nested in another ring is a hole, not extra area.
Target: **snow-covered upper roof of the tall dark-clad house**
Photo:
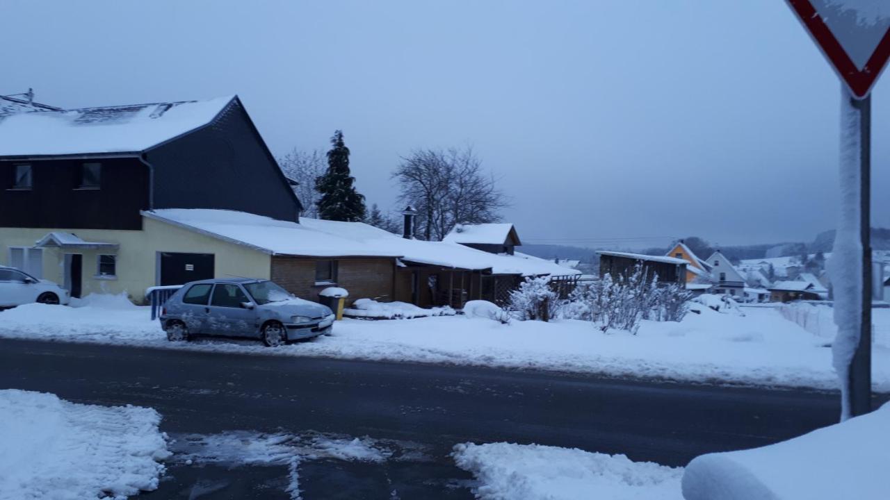
[[[234,99],[0,114],[0,157],[138,153],[209,124]]]

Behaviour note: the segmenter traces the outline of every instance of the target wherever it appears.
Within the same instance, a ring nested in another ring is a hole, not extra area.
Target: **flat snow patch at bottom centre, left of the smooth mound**
[[[681,500],[683,469],[577,448],[492,443],[457,445],[457,466],[479,480],[482,500]]]

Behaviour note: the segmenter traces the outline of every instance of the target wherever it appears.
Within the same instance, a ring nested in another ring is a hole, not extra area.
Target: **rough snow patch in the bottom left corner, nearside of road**
[[[151,408],[0,391],[0,499],[80,500],[158,488],[170,454]]]

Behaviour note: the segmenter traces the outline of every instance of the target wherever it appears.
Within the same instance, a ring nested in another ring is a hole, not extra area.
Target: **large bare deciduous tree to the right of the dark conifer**
[[[473,149],[418,149],[392,173],[401,203],[417,209],[417,234],[440,240],[458,223],[497,222],[507,206]]]

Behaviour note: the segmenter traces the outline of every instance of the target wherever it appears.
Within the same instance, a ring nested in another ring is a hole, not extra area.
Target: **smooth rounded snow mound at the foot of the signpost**
[[[881,500],[890,492],[890,406],[763,448],[699,456],[686,500]]]

